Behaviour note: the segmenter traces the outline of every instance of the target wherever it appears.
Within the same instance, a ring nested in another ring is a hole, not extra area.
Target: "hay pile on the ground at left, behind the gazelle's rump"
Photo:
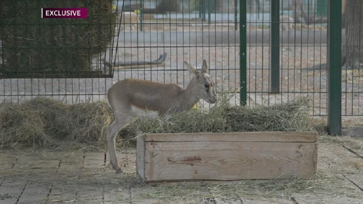
[[[21,105],[0,106],[0,144],[61,147],[79,143],[105,147],[105,127],[111,120],[105,102],[66,105],[37,97]]]

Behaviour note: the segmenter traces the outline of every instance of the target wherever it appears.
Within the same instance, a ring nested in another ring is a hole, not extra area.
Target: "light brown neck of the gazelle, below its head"
[[[185,110],[190,110],[192,107],[199,101],[199,97],[196,95],[195,87],[196,87],[196,80],[192,78],[189,82],[188,87],[181,91],[180,95],[180,105]]]

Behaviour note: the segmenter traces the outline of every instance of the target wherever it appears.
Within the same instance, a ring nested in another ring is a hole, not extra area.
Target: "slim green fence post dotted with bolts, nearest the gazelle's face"
[[[240,103],[247,103],[247,1],[240,0]]]

